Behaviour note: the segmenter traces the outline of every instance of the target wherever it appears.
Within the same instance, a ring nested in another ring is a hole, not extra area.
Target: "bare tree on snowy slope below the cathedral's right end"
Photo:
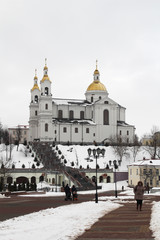
[[[129,156],[128,152],[128,143],[125,137],[120,135],[114,136],[110,138],[111,146],[114,149],[115,155],[122,161],[124,156]]]

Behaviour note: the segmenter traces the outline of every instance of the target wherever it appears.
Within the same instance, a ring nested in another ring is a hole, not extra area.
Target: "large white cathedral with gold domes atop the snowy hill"
[[[45,64],[40,88],[35,74],[31,89],[29,141],[101,144],[120,136],[132,143],[135,127],[125,122],[126,109],[108,95],[96,65],[85,99],[54,98]]]

